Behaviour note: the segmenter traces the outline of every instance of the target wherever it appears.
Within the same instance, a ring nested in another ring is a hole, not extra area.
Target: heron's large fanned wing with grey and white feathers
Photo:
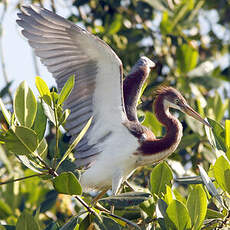
[[[122,97],[122,63],[102,40],[66,19],[35,6],[22,7],[17,23],[37,56],[61,89],[75,74],[65,107],[71,110],[66,128],[74,139],[90,117],[90,129],[77,146],[78,166],[103,151],[103,141],[126,119]]]

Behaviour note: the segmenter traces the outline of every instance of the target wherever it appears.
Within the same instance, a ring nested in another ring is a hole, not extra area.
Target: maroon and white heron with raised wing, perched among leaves
[[[65,103],[71,110],[66,128],[76,138],[90,117],[92,124],[76,148],[76,164],[86,170],[81,176],[85,190],[112,187],[117,193],[121,183],[139,166],[168,157],[182,137],[182,125],[169,108],[201,118],[174,88],[156,92],[154,110],[166,127],[157,139],[137,119],[141,87],[155,66],[141,57],[122,82],[123,68],[114,51],[101,39],[46,9],[22,7],[17,23],[35,54],[53,74],[58,88],[75,74],[75,88]]]

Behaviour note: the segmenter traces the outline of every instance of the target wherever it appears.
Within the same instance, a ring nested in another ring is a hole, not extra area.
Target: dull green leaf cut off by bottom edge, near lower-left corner
[[[24,211],[18,218],[16,230],[40,230],[40,228],[38,223],[34,220],[34,217]]]

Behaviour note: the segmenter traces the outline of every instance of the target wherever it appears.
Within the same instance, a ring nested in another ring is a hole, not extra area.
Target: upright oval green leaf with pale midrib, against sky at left
[[[37,101],[26,81],[23,81],[16,90],[14,113],[22,126],[32,127],[37,113]]]

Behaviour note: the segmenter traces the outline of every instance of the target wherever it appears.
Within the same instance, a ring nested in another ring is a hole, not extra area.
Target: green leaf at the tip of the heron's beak
[[[212,126],[212,130],[210,129],[205,129],[206,133],[211,132],[213,135],[209,135],[207,133],[207,137],[209,139],[210,144],[214,147],[217,148],[218,150],[222,150],[226,152],[226,147],[225,147],[225,130],[224,128],[217,123],[216,121],[208,118],[209,124]]]

